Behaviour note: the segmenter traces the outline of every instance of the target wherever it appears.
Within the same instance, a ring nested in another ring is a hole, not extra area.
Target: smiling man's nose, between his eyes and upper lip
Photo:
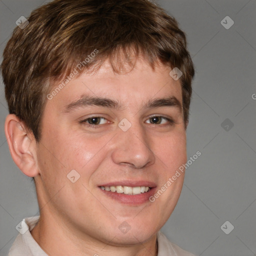
[[[126,131],[118,127],[111,156],[114,163],[137,169],[149,166],[155,161],[155,155],[150,148],[150,137],[139,123],[132,123]]]

